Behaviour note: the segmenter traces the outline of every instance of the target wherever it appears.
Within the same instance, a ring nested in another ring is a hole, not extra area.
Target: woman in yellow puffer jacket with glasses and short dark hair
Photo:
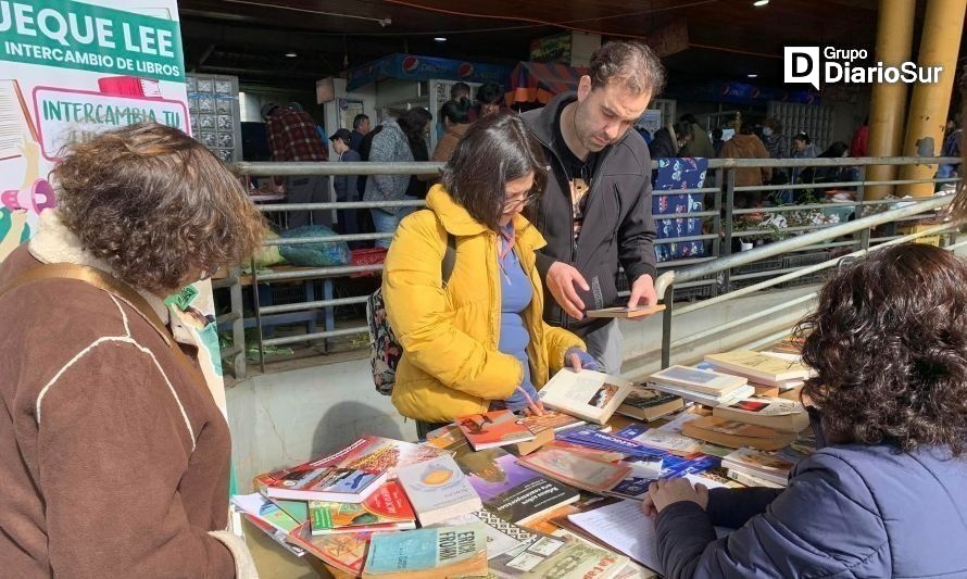
[[[427,209],[403,219],[382,292],[403,356],[392,401],[420,436],[467,414],[540,413],[536,390],[565,364],[594,368],[581,340],[543,323],[535,251],[544,240],[520,213],[547,182],[540,144],[515,115],[474,124]],[[442,280],[448,237],[456,259]]]

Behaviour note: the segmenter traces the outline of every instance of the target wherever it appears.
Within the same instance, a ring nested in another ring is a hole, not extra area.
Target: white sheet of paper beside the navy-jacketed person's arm
[[[662,572],[655,541],[655,524],[641,512],[640,501],[621,501],[567,518],[613,549]]]

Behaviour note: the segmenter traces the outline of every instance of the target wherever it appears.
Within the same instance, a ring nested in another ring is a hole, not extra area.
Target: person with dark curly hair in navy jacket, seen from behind
[[[967,265],[922,243],[828,281],[796,329],[819,450],[786,489],[652,483],[665,577],[967,577],[965,303]]]

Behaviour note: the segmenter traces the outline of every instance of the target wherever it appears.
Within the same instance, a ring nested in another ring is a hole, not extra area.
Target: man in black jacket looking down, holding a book
[[[585,312],[615,305],[619,264],[631,288],[628,306],[657,301],[651,156],[628,129],[662,90],[665,72],[644,45],[618,41],[598,49],[588,73],[576,95],[522,116],[551,166],[535,210],[548,242],[537,267],[553,298],[545,300],[544,319],[578,333],[605,372],[616,374],[616,320],[587,319]]]

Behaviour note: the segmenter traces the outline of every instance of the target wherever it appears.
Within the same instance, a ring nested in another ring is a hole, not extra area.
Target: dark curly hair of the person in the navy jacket
[[[903,452],[967,441],[967,265],[911,243],[874,252],[830,279],[796,327],[803,389],[832,443]]]

